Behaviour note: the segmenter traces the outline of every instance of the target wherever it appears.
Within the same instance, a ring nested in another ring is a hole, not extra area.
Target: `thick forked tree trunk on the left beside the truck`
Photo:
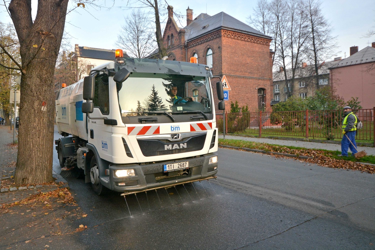
[[[33,22],[31,0],[9,4],[22,61],[17,184],[53,180],[54,68],[67,7],[68,0],[38,1]]]

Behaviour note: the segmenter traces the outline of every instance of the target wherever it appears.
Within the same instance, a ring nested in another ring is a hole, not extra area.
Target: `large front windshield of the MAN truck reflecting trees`
[[[121,115],[155,111],[211,113],[208,79],[202,76],[131,73],[118,92]]]

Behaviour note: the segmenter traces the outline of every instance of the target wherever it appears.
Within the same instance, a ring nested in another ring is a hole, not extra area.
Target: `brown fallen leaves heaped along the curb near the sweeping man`
[[[304,162],[315,163],[319,166],[324,166],[328,168],[352,169],[352,170],[359,170],[362,172],[368,172],[370,174],[375,174],[375,166],[365,165],[359,162],[354,162],[352,161],[352,160],[355,160],[354,157],[345,157],[348,159],[335,159],[335,158],[338,158],[337,154],[339,153],[336,151],[287,147],[287,146],[281,146],[281,145],[273,145],[273,144],[266,144],[266,143],[259,143],[259,142],[249,142],[249,141],[242,141],[242,140],[232,140],[232,139],[225,139],[225,140],[219,139],[219,144],[240,147],[240,148],[264,150],[268,153],[278,152],[278,153],[286,153],[286,154],[295,154],[297,156],[310,156],[310,157],[313,157],[313,159],[298,159],[298,160],[304,161]],[[276,154],[274,154],[273,156],[295,159],[293,157],[281,156],[281,155],[276,155]],[[374,156],[368,156],[368,157],[374,157]]]

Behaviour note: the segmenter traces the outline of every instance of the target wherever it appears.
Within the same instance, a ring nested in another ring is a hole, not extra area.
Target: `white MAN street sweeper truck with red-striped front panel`
[[[96,67],[57,93],[60,165],[82,169],[97,194],[103,186],[127,193],[214,176],[210,78],[205,65],[170,60],[117,57]],[[223,100],[221,82],[217,92]]]

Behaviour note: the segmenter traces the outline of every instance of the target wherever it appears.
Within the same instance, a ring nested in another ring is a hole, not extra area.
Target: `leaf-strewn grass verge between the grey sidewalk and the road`
[[[234,139],[220,139],[219,144],[227,145],[227,146],[234,146],[234,147],[242,147],[242,148],[251,148],[251,149],[258,149],[264,151],[272,151],[272,152],[279,152],[279,153],[287,153],[287,154],[299,154],[301,155],[309,155],[310,152],[316,153],[317,151],[320,154],[327,156],[331,159],[338,159],[338,160],[348,160],[351,162],[366,162],[375,164],[375,156],[367,155],[360,159],[356,159],[354,156],[348,157],[339,157],[338,154],[341,154],[341,151],[330,151],[330,150],[315,150],[310,148],[302,148],[302,147],[293,147],[293,146],[284,146],[284,145],[275,145],[275,144],[267,144],[267,143],[260,143],[260,142],[250,142],[250,141],[242,141],[242,140],[234,140]]]

